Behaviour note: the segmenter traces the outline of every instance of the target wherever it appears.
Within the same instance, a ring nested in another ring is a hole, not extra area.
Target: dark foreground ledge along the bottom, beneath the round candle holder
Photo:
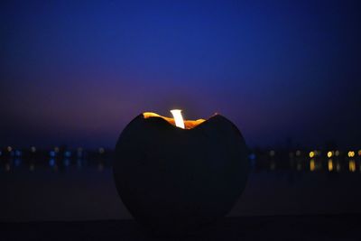
[[[195,236],[159,240],[360,240],[361,214],[225,218]],[[0,240],[157,240],[134,220],[0,223]]]

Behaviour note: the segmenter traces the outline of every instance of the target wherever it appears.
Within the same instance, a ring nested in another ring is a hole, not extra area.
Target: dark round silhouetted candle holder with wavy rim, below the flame
[[[190,129],[170,123],[139,115],[116,144],[118,193],[134,218],[157,235],[192,233],[224,217],[249,173],[245,140],[224,116]]]

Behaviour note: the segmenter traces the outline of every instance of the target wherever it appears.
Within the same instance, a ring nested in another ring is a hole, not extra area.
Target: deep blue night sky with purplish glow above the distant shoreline
[[[1,1],[0,145],[114,147],[179,107],[250,146],[360,146],[357,2]]]

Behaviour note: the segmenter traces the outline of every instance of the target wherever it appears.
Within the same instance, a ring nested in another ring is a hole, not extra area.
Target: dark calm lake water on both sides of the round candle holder
[[[254,168],[229,215],[361,212],[358,161],[338,171],[310,171],[310,160],[302,163],[292,170],[273,162]],[[110,161],[1,160],[0,190],[0,221],[131,218],[116,193]]]

